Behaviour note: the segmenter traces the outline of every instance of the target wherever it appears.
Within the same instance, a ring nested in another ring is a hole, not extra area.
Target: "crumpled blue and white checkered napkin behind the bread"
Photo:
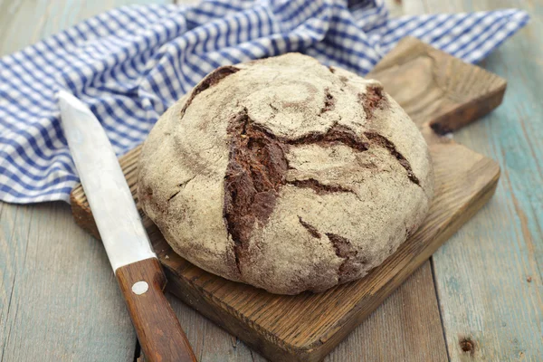
[[[89,105],[122,155],[220,65],[304,52],[364,75],[408,34],[478,62],[528,20],[518,10],[390,19],[383,0],[215,0],[100,14],[0,59],[0,199],[69,200],[78,177],[61,87]]]

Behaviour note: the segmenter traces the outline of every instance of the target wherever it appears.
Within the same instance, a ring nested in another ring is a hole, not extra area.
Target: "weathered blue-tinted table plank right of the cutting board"
[[[504,102],[454,135],[496,159],[502,180],[488,207],[433,255],[452,360],[543,360],[543,1],[426,0],[424,11],[510,7],[530,23],[481,63],[508,79]]]

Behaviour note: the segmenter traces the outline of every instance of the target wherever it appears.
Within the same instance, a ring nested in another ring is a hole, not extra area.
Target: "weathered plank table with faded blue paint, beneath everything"
[[[0,0],[0,55],[133,3]],[[454,136],[498,160],[496,195],[326,360],[543,360],[543,0],[387,3],[392,14],[520,7],[532,21],[481,64],[509,81],[502,106]],[[263,361],[170,300],[201,361]],[[0,360],[138,354],[106,253],[73,223],[69,206],[0,203]]]

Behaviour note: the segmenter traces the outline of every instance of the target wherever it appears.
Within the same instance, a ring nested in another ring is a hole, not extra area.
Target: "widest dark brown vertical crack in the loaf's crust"
[[[233,239],[238,270],[255,224],[266,224],[285,184],[287,158],[281,141],[255,125],[243,110],[231,120],[228,166],[224,175],[223,216]]]

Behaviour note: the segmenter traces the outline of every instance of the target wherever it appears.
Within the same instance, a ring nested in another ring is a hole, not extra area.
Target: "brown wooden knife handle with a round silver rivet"
[[[164,295],[166,276],[157,258],[122,266],[115,274],[146,360],[196,361],[185,332]]]

